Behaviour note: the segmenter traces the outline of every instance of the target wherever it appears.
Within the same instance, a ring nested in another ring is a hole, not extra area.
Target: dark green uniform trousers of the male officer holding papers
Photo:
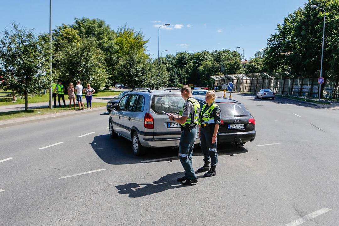
[[[194,142],[197,138],[197,133],[197,127],[192,128],[191,131],[188,129],[184,129],[181,133],[179,143],[179,159],[181,165],[185,169],[185,176],[190,180],[194,180],[197,178],[192,167],[193,148]]]

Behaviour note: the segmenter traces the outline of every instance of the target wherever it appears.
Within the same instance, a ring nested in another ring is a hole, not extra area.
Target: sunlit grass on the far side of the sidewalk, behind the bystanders
[[[10,92],[4,92],[0,90],[0,96],[3,96],[7,93]],[[106,96],[117,96],[121,93],[121,91],[115,91],[115,90],[107,90],[107,89],[103,89],[103,90],[99,90],[98,93],[94,93],[93,97],[106,97]],[[9,97],[11,98],[11,97]],[[58,99],[58,97],[57,97]],[[65,95],[65,100],[68,100],[67,95]],[[46,95],[42,95],[42,96],[29,96],[28,97],[28,103],[39,103],[39,102],[47,102],[49,101],[49,94],[47,93]],[[17,101],[16,102],[12,102],[12,101],[0,101],[0,106],[4,106],[4,105],[13,105],[13,104],[24,104],[25,100],[21,97],[17,97]]]

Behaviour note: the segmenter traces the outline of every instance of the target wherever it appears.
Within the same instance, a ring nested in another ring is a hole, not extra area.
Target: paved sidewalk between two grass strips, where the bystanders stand
[[[107,96],[107,97],[94,97],[92,102],[101,102],[106,103],[109,100],[113,99],[115,96]],[[83,98],[85,99],[85,98]],[[57,101],[58,102],[58,101]],[[65,99],[66,105],[69,105],[69,100]],[[49,102],[40,102],[40,103],[28,103],[28,109],[35,109],[35,108],[48,108]],[[61,100],[62,103],[62,100]],[[73,101],[72,101],[73,104]],[[86,105],[86,100],[84,100],[84,104]],[[59,104],[57,103],[57,106]],[[13,104],[13,105],[4,105],[0,106],[0,112],[8,112],[8,111],[19,111],[25,110],[25,104]]]

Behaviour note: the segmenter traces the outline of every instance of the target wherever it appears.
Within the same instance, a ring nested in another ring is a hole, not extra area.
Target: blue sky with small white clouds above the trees
[[[99,18],[114,30],[127,24],[142,30],[149,39],[147,53],[156,58],[157,26],[170,23],[160,28],[160,52],[168,50],[163,56],[240,46],[248,59],[266,46],[277,23],[306,1],[53,0],[52,27],[71,24],[75,17]],[[49,32],[49,0],[1,0],[0,15],[1,31],[16,21],[38,34]]]

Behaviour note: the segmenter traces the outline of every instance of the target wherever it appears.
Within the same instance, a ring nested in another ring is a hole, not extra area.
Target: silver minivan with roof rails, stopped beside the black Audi
[[[183,104],[178,90],[133,89],[111,107],[109,134],[131,140],[135,155],[142,155],[147,147],[179,146],[180,125],[163,112],[177,114]],[[197,137],[196,144],[199,142]]]

